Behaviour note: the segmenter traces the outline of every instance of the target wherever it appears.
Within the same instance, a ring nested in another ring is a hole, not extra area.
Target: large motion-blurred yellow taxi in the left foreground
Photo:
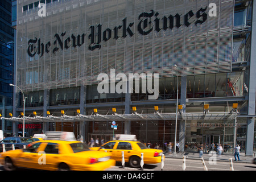
[[[43,140],[26,149],[0,153],[0,163],[8,171],[16,167],[43,170],[101,171],[115,166],[110,154],[91,151],[78,141]]]

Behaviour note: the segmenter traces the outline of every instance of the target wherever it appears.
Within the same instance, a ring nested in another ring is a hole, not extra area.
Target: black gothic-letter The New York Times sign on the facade
[[[67,37],[66,32],[60,34],[55,34],[55,41],[43,43],[40,38],[34,38],[28,40],[27,53],[30,57],[34,57],[36,54],[42,57],[44,53],[52,51],[56,53],[61,49],[69,49],[71,47],[76,48],[81,47],[86,39],[88,39],[89,47],[88,49],[93,51],[94,49],[101,48],[101,42],[108,42],[110,39],[125,39],[128,35],[130,37],[134,36],[133,26],[137,26],[137,31],[141,35],[148,35],[152,31],[166,31],[168,29],[180,28],[182,26],[189,27],[192,24],[199,26],[207,20],[207,6],[201,7],[196,12],[192,10],[188,11],[187,14],[174,14],[168,16],[160,16],[160,13],[151,10],[150,12],[143,12],[138,16],[139,23],[134,24],[134,22],[127,22],[127,18],[122,20],[122,25],[115,26],[113,28],[106,28],[102,30],[102,24],[97,24],[96,26],[89,27],[89,35],[69,35]],[[193,20],[192,20],[193,17]],[[120,32],[122,34],[120,34]],[[119,33],[118,33],[119,32]],[[118,36],[119,35],[119,36]],[[122,35],[122,36],[120,36]]]

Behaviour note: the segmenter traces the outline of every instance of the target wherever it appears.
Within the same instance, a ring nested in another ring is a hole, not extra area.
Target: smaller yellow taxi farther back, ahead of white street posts
[[[112,154],[111,158],[122,162],[122,151],[125,162],[131,167],[141,167],[141,153],[143,153],[144,164],[156,164],[161,162],[162,150],[147,148],[143,143],[131,140],[113,140],[103,144],[101,147],[93,147],[91,150],[105,151]]]

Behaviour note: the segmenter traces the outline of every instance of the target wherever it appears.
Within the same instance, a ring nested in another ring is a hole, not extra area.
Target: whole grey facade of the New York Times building
[[[207,151],[209,143],[219,143],[232,152],[239,143],[252,155],[253,2],[17,1],[14,84],[25,94],[25,115],[36,111],[42,117],[36,126],[27,119],[26,133],[73,131],[88,142],[110,140],[114,131],[160,147],[176,135],[181,151],[198,144]],[[22,94],[16,90],[13,97],[14,117],[20,118]],[[177,103],[182,106],[177,123],[162,117],[175,114]],[[113,107],[117,117],[143,119],[119,118],[117,130],[110,119],[46,119],[49,113],[60,117],[61,110],[75,117],[77,109],[88,117],[97,109],[104,117]],[[159,119],[150,119],[153,113]],[[19,126],[13,122],[14,134]]]

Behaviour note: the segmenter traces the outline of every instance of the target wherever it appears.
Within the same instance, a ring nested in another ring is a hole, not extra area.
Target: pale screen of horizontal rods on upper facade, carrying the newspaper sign
[[[234,1],[210,1],[216,16],[208,0],[52,1],[43,18],[38,2],[17,2],[16,84],[24,92],[98,84],[110,69],[159,77],[231,71]]]

